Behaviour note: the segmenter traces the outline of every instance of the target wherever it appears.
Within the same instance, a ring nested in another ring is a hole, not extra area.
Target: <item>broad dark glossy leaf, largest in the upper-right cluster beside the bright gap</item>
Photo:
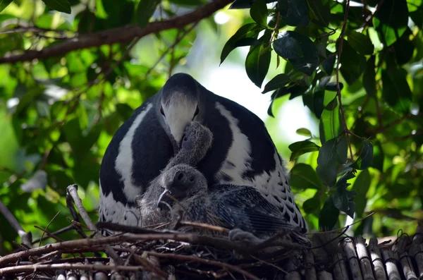
[[[289,42],[289,44],[287,44],[287,42]],[[301,71],[309,76],[313,74],[319,64],[319,53],[317,52],[316,46],[314,46],[309,37],[298,32],[286,31],[280,34],[279,39],[274,41],[273,46],[276,54],[282,57],[288,54],[299,55],[301,50],[301,57],[294,58],[290,56],[288,61],[293,65],[295,70]]]

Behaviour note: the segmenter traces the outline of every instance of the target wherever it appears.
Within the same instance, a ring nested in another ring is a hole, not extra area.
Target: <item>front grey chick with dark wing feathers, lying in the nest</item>
[[[281,229],[296,229],[277,207],[255,188],[221,184],[207,187],[207,180],[192,166],[179,164],[162,174],[164,193],[178,200],[172,213],[185,212],[185,219],[200,223],[241,229],[256,236],[269,236]]]

